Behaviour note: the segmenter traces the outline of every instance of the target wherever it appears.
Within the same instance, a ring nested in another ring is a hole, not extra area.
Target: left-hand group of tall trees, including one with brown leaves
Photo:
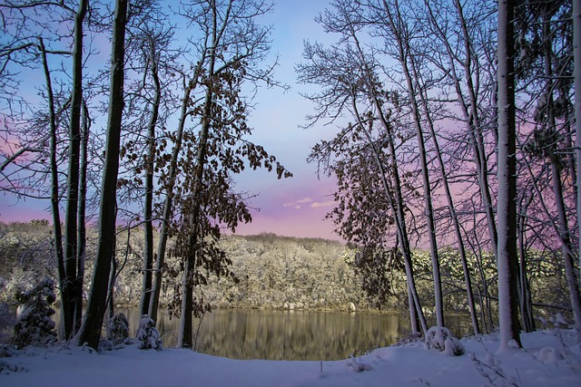
[[[180,345],[192,346],[192,314],[209,308],[195,288],[210,274],[229,275],[217,245],[222,229],[251,220],[234,176],[245,168],[291,176],[251,142],[252,99],[242,92],[279,86],[268,59],[270,27],[258,20],[270,9],[253,0],[0,5],[3,187],[53,203],[64,337],[97,347],[123,256],[117,236],[143,226],[143,314],[156,314],[168,276],[164,256],[179,257],[174,310],[183,320]],[[189,37],[175,36],[175,18]],[[104,47],[95,41],[108,37],[111,61],[96,60]],[[21,73],[39,72],[43,86],[30,98]],[[90,133],[97,121],[103,131]],[[98,218],[99,237],[81,324],[85,211]],[[161,230],[157,256],[153,227]],[[170,251],[168,237],[176,240]]]

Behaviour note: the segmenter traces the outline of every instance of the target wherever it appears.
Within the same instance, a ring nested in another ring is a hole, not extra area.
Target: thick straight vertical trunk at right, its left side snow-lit
[[[499,351],[522,347],[517,305],[517,131],[515,123],[514,0],[498,2],[498,308]]]

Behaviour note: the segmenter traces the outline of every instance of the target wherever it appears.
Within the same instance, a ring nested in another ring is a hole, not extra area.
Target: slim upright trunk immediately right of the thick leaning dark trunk
[[[155,49],[151,48],[152,78],[154,84],[154,96],[152,102],[152,116],[147,125],[147,161],[145,165],[145,203],[143,211],[144,238],[143,247],[143,289],[140,302],[140,314],[149,314],[149,306],[152,298],[152,269],[153,269],[153,162],[155,159],[155,126],[159,116],[160,102],[162,98],[162,86],[157,72],[157,59]],[[157,317],[157,316],[156,316]]]

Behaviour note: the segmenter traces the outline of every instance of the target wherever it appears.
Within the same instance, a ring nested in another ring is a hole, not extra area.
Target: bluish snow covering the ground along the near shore
[[[143,351],[137,344],[102,353],[34,348],[0,358],[0,386],[581,386],[575,331],[521,338],[524,350],[497,352],[493,334],[462,339],[460,356],[419,342],[334,362],[233,360],[183,349]]]

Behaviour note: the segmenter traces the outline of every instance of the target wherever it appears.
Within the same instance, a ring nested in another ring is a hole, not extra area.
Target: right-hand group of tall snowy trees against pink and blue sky
[[[329,218],[355,245],[355,266],[410,267],[413,332],[423,321],[413,247],[430,251],[439,326],[450,292],[443,247],[458,251],[475,333],[490,308],[503,348],[519,343],[521,327],[534,329],[539,252],[566,273],[579,324],[572,6],[336,0],[318,16],[337,43],[307,41],[297,71],[320,88],[306,95],[310,126],[332,123],[338,134],[310,160],[339,182]],[[497,263],[494,307],[480,266],[487,254]]]

